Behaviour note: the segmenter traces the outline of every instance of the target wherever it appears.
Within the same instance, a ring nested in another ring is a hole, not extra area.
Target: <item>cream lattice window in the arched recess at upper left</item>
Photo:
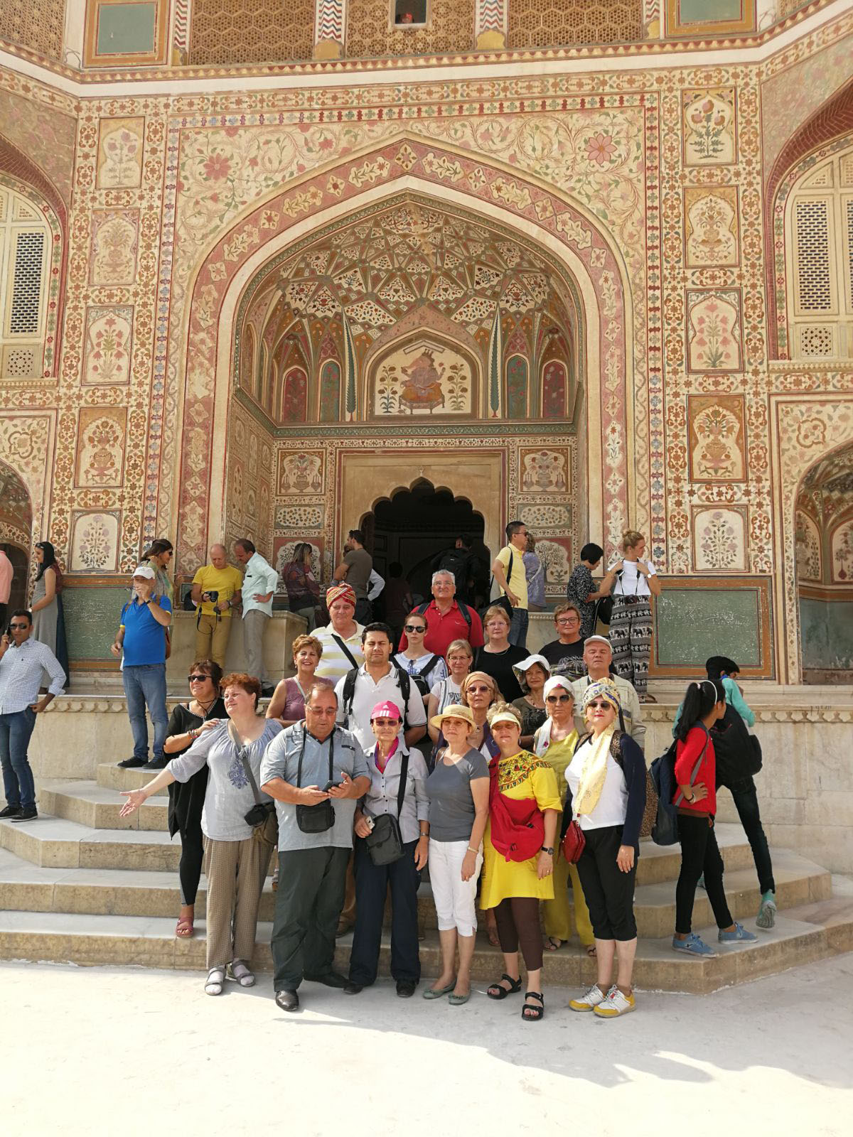
[[[0,185],[0,376],[34,379],[44,356],[51,232],[41,210]]]

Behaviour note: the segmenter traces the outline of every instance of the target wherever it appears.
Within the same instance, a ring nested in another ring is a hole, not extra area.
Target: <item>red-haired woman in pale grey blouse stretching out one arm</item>
[[[142,789],[126,790],[122,816],[173,781],[185,782],[207,763],[209,777],[201,812],[207,877],[207,980],[205,991],[221,995],[225,971],[241,987],[251,987],[249,970],[255,949],[260,893],[274,841],[263,832],[272,821],[252,829],[246,814],[255,805],[255,787],[260,782],[260,760],[267,745],[281,731],[280,723],[258,715],[260,683],[254,675],[238,673],[222,681],[222,698],[229,719],[209,719],[192,730],[192,746],[173,758]],[[249,777],[251,775],[251,777]],[[266,794],[262,802],[272,803]],[[274,816],[274,815],[273,815]]]

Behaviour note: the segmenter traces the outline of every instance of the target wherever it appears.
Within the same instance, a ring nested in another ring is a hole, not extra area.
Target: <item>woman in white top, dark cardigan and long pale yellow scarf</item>
[[[569,1005],[573,1011],[594,1011],[602,1019],[615,1019],[635,1009],[633,886],[646,808],[646,763],[630,735],[618,729],[619,691],[612,680],[590,683],[583,691],[581,711],[590,732],[578,742],[565,771],[569,794],[563,831],[574,818],[586,838],[578,875],[595,932],[598,977],[581,998]]]

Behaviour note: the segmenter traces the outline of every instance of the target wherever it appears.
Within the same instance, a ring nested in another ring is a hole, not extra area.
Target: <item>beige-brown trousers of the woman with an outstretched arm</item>
[[[271,853],[271,846],[255,837],[245,841],[205,838],[208,971],[233,960],[251,962]]]

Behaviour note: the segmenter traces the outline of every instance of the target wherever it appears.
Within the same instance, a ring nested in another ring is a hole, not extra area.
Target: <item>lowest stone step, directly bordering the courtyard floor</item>
[[[272,926],[259,923],[254,955],[255,970],[271,970],[270,936]],[[715,929],[699,933],[717,944]],[[336,966],[346,971],[351,937],[338,941]],[[760,933],[755,944],[720,948],[713,958],[686,958],[671,948],[670,937],[640,940],[637,949],[635,982],[645,991],[672,990],[702,994],[731,984],[811,963],[853,947],[853,896],[842,895],[818,904],[793,908],[780,915],[776,929]],[[390,943],[383,936],[380,973],[388,974]],[[154,916],[80,915],[57,912],[0,912],[0,957],[7,960],[50,961],[57,963],[106,964],[114,966],[205,968],[204,924],[196,936],[181,940],[174,936],[174,920]],[[421,944],[424,982],[438,974],[440,951],[438,935],[428,932]],[[479,944],[472,974],[478,991],[503,971],[503,957],[488,943]],[[578,948],[549,955],[545,964],[546,989],[562,985],[581,989],[595,979],[594,961]],[[199,976],[199,984],[201,976]],[[272,990],[268,976],[262,986]],[[309,997],[310,985],[304,996]],[[549,1009],[562,1010],[556,996]],[[370,1004],[370,994],[362,998]],[[519,1001],[520,1011],[520,1001]]]

